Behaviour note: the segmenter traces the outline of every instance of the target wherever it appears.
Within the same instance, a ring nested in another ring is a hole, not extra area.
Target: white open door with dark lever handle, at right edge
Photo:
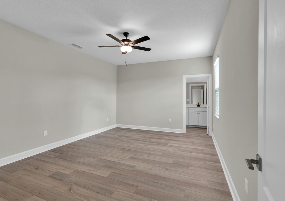
[[[284,0],[259,1],[258,55],[258,201],[279,201],[285,187]]]

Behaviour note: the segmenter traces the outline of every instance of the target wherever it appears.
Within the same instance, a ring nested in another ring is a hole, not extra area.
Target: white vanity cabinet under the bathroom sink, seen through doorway
[[[187,107],[186,124],[195,126],[207,126],[207,108]]]

